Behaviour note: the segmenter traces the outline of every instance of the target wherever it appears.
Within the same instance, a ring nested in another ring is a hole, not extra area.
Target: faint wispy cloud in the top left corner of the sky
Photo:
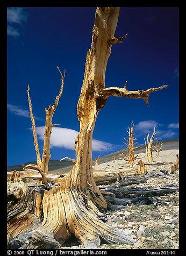
[[[28,18],[27,12],[20,7],[10,7],[7,9],[7,34],[12,37],[19,37],[20,29],[15,27],[17,24],[23,26]]]

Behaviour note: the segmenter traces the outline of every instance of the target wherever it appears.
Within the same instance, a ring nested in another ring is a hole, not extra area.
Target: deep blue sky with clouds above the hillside
[[[30,86],[40,153],[45,107],[54,103],[61,77],[66,77],[53,116],[51,159],[75,158],[79,131],[76,106],[81,92],[96,7],[9,7],[7,12],[7,160],[17,165],[36,160],[28,109]],[[112,46],[105,87],[145,90],[167,84],[142,99],[110,97],[99,111],[93,134],[93,158],[124,148],[128,126],[134,122],[138,144],[153,132],[156,138],[178,138],[179,16],[178,7],[121,7],[116,35],[128,33]]]

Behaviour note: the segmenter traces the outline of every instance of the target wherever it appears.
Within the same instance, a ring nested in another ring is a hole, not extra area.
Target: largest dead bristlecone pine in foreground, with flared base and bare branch
[[[26,186],[17,171],[9,178],[8,248],[62,248],[71,234],[85,248],[97,248],[101,239],[109,244],[135,241],[122,230],[102,221],[108,205],[92,175],[92,133],[99,110],[104,108],[109,96],[142,98],[148,106],[148,95],[167,86],[137,91],[129,91],[126,86],[105,88],[111,47],[126,38],[126,35],[115,35],[118,16],[119,7],[98,7],[95,12],[92,43],[77,104],[80,133],[75,139],[76,162],[71,171],[66,176],[61,175],[58,183],[43,184],[42,190]],[[46,138],[48,132],[51,133],[54,108],[46,109],[46,124],[49,125],[45,131]],[[49,177],[45,169],[50,157],[48,141],[45,146],[45,160],[38,158],[39,169],[34,166],[33,170],[41,172],[43,181]]]

